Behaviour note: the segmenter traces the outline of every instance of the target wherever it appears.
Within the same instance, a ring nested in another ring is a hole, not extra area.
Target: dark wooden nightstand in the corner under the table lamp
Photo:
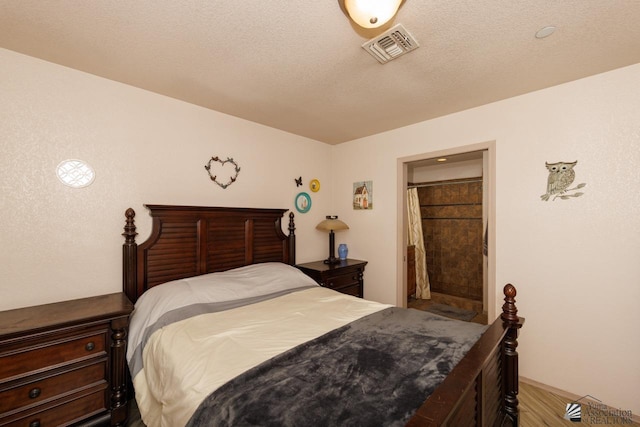
[[[362,277],[366,265],[367,261],[346,259],[333,265],[314,261],[298,264],[296,267],[324,287],[362,298],[364,286]]]

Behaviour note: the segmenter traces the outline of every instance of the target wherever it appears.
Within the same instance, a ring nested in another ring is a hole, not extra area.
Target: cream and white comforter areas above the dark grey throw
[[[226,275],[222,278],[220,273],[208,275],[215,277],[213,282],[200,276],[195,279],[199,283],[194,284],[194,279],[190,279],[187,282],[191,283],[177,287],[189,289],[187,293],[207,294],[209,302],[211,299],[217,302],[220,298],[237,298],[238,295],[241,298],[251,294],[264,295],[299,286],[312,285],[313,288],[230,310],[199,314],[153,332],[142,351],[143,366],[133,378],[142,420],[148,426],[184,425],[202,400],[245,370],[332,329],[389,307],[315,286],[315,282],[299,270],[284,264],[238,270],[243,277],[241,282],[249,278],[244,283],[246,286],[234,283],[222,285],[224,289],[220,293],[212,291],[212,287],[221,283],[237,280],[237,277],[229,277],[233,272],[227,272],[222,273]],[[282,280],[284,277],[286,280]],[[256,279],[263,285],[266,283],[267,291],[265,287],[250,284]],[[163,286],[165,289],[158,293],[165,295],[154,296],[149,292],[151,297],[146,298],[145,294],[136,304],[127,354],[130,363],[135,347],[144,340],[144,330],[163,313],[194,301],[203,302],[202,295],[185,296],[184,292],[170,289],[172,286],[161,285],[160,288]],[[239,290],[238,286],[244,289]],[[194,291],[193,288],[202,289]]]

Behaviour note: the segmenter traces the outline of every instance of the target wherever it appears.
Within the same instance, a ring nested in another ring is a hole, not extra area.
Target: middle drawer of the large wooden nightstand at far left
[[[7,390],[0,387],[0,414],[51,401],[100,383],[106,385],[106,378],[107,362],[103,360]]]

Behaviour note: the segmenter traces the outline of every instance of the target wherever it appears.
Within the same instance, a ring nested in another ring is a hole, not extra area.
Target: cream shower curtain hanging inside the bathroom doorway
[[[416,250],[416,298],[431,299],[417,188],[407,189],[407,212],[409,214],[409,245],[415,246]]]

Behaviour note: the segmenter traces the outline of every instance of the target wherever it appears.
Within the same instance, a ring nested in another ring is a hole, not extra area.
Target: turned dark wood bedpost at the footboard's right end
[[[518,330],[522,327],[524,319],[518,317],[516,307],[516,288],[511,283],[504,287],[504,304],[502,305],[502,322],[507,329],[504,339],[503,363],[504,371],[504,410],[511,420],[512,425],[519,423],[518,414]]]

